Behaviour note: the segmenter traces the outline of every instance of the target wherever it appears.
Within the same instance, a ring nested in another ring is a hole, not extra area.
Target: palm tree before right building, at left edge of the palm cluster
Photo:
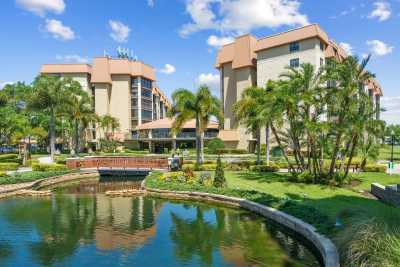
[[[266,91],[260,87],[249,87],[242,93],[242,98],[233,105],[236,119],[247,131],[256,137],[257,164],[261,162],[261,128],[266,126],[263,116]]]

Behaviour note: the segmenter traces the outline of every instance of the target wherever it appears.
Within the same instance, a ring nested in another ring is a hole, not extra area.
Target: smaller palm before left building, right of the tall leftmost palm
[[[80,137],[90,124],[93,124],[97,116],[92,108],[89,95],[80,88],[79,95],[73,95],[68,109],[68,116],[74,128],[74,153],[80,151]]]

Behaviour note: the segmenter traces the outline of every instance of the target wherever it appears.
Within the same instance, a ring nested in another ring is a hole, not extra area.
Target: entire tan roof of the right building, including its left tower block
[[[234,69],[255,66],[258,51],[310,38],[319,38],[329,44],[328,35],[317,24],[310,24],[259,40],[249,34],[243,35],[237,37],[233,43],[224,45],[218,51],[215,67],[220,68],[222,64],[230,62]]]

